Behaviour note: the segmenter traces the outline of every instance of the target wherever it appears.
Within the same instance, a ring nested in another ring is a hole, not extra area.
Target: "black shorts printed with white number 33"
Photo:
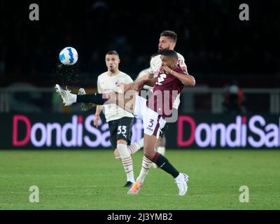
[[[109,121],[110,142],[113,149],[117,148],[117,141],[120,139],[127,141],[127,145],[130,145],[133,123],[134,118],[130,117]]]

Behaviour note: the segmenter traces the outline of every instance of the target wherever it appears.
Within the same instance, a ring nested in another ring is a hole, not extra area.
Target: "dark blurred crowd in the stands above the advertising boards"
[[[87,74],[94,82],[106,69],[109,50],[118,51],[120,69],[136,78],[165,29],[178,34],[175,50],[202,83],[236,74],[255,80],[279,76],[277,1],[250,2],[249,21],[239,20],[238,1],[152,2],[37,1],[39,21],[30,21],[29,3],[9,11],[8,1],[1,1],[0,86],[16,80],[48,85],[59,51],[69,45],[78,50],[80,78]]]

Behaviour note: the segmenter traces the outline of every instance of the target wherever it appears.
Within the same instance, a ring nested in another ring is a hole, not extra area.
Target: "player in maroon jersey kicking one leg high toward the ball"
[[[170,109],[184,86],[195,86],[195,78],[186,74],[178,66],[178,55],[174,50],[164,50],[161,53],[162,68],[158,77],[148,77],[134,83],[122,86],[123,93],[112,92],[108,94],[71,94],[69,90],[62,90],[56,85],[57,93],[62,97],[65,106],[73,103],[86,102],[93,104],[118,104],[126,111],[141,118],[144,123],[144,156],[154,162],[160,169],[171,174],[179,188],[179,195],[185,195],[188,186],[188,175],[179,171],[165,158],[155,151],[155,144],[160,135],[160,129],[165,126],[166,118],[172,116]],[[139,97],[138,92],[144,84],[154,86],[153,95],[148,101]],[[136,90],[136,91],[135,91]],[[128,93],[128,94],[127,94]],[[175,93],[175,94],[174,94]],[[148,161],[143,161],[142,166]],[[127,192],[136,195],[143,183],[136,181]]]

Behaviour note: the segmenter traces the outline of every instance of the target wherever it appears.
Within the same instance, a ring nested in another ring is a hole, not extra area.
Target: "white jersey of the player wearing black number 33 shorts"
[[[106,71],[97,78],[97,90],[99,93],[107,93],[112,91],[119,92],[119,87],[116,85],[117,83],[127,84],[132,82],[132,78],[122,71],[120,71],[120,73],[118,73],[116,76],[109,76],[108,71]],[[110,120],[118,120],[123,117],[134,117],[132,113],[128,113],[117,104],[104,104],[103,109],[106,122],[109,122]]]

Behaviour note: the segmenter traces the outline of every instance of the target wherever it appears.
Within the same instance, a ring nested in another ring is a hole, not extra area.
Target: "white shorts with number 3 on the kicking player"
[[[160,130],[165,127],[166,120],[157,112],[146,106],[147,100],[137,96],[134,104],[134,116],[143,120],[144,134],[160,137]]]

